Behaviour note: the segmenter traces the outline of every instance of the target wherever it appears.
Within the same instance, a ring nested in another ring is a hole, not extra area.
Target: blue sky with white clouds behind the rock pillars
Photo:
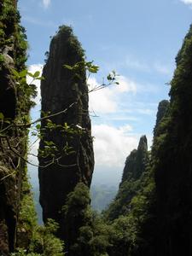
[[[89,84],[119,74],[119,85],[90,94],[96,167],[93,183],[118,185],[131,150],[146,134],[150,148],[158,103],[168,99],[175,57],[192,18],[192,0],[19,0],[29,41],[27,65],[44,65],[58,26],[73,27],[88,61],[100,67]],[[40,85],[38,85],[38,92]],[[32,109],[38,118],[40,96]],[[38,143],[32,150],[37,149]],[[32,161],[33,158],[30,158]],[[37,178],[37,168],[31,167]]]

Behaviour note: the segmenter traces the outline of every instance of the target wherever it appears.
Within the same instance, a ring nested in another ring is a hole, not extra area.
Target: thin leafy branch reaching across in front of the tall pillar
[[[69,70],[70,72],[73,73],[73,76],[81,79],[80,73],[85,70],[86,72],[86,78],[87,81],[90,78],[90,73],[97,73],[99,70],[99,67],[93,64],[93,61],[79,61],[76,63],[74,66],[69,66],[69,65],[64,65],[64,68]],[[31,98],[34,98],[37,96],[37,90],[36,90],[36,85],[34,84],[35,80],[42,80],[44,77],[40,76],[40,72],[37,71],[35,73],[29,73],[27,70],[23,70],[20,73],[18,73],[15,70],[12,70],[13,73],[13,78],[16,81],[16,85],[22,90],[25,90],[25,93],[27,93]],[[32,81],[30,84],[26,83],[26,76],[29,76],[32,78]],[[108,87],[111,84],[119,84],[117,81],[117,74],[113,71],[112,73],[108,74],[107,80],[108,83],[102,83],[94,86],[90,90],[87,90],[85,94],[89,94],[91,92],[95,92],[97,90],[102,90],[106,87]],[[88,84],[88,82],[87,82]],[[25,86],[24,86],[25,85]],[[88,84],[89,85],[89,84]],[[24,92],[24,91],[23,91]],[[0,113],[0,146],[3,147],[2,140],[4,140],[7,143],[7,148],[15,154],[19,160],[23,160],[29,165],[32,166],[38,166],[36,164],[33,164],[30,160],[27,160],[26,157],[23,157],[20,152],[16,149],[14,143],[11,143],[10,138],[9,138],[9,131],[20,131],[20,129],[30,129],[31,134],[33,136],[38,136],[38,139],[43,139],[44,140],[44,149],[39,149],[38,154],[44,159],[48,159],[47,161],[44,161],[45,165],[44,166],[39,166],[41,168],[46,168],[48,166],[51,166],[53,164],[56,164],[58,166],[64,166],[64,167],[69,167],[69,166],[76,166],[77,164],[72,164],[72,165],[62,165],[60,163],[60,160],[63,156],[69,155],[69,154],[74,154],[75,151],[73,147],[68,145],[68,142],[63,145],[62,148],[57,148],[55,143],[52,141],[47,141],[44,138],[44,135],[49,132],[49,131],[60,131],[63,136],[66,138],[73,137],[75,135],[81,136],[86,132],[86,129],[84,127],[81,127],[80,125],[67,125],[67,123],[64,123],[64,125],[57,125],[55,124],[51,119],[55,118],[55,116],[67,113],[67,111],[70,108],[73,108],[74,105],[78,104],[80,99],[80,96],[77,98],[77,100],[73,103],[71,103],[67,108],[61,110],[60,112],[57,113],[44,113],[44,116],[41,118],[35,119],[33,121],[28,121],[28,119],[22,118],[22,122],[18,122],[16,120],[12,119],[6,119],[3,116],[3,113]],[[86,110],[87,111],[87,110]],[[41,128],[40,122],[46,121],[45,128]],[[35,126],[34,126],[35,125]],[[36,143],[38,139],[34,142]],[[67,141],[67,140],[66,140]],[[19,142],[20,143],[20,142]],[[34,144],[33,143],[33,144]],[[31,145],[32,147],[32,145]],[[36,154],[28,153],[29,155],[38,157]],[[17,166],[18,168],[18,166]],[[15,170],[17,169],[15,168]],[[5,178],[5,177],[3,177]]]

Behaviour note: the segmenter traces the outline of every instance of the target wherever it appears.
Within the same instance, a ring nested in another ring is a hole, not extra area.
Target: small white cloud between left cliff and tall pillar
[[[30,73],[35,73],[36,71],[40,72],[40,76],[42,75],[42,69],[43,69],[43,65],[42,64],[33,64],[31,66],[28,67],[28,71]],[[27,76],[26,77],[26,81],[28,84],[32,83],[35,84],[37,86],[37,91],[38,91],[38,96],[34,99],[34,102],[36,102],[37,105],[40,104],[40,99],[41,99],[41,91],[40,91],[40,80],[35,80],[32,82],[32,78]]]

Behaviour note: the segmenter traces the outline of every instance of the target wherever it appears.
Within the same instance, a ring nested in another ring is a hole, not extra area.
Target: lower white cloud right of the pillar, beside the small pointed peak
[[[138,137],[131,135],[130,125],[115,128],[110,125],[93,125],[94,151],[97,166],[123,166],[131,150],[137,148]]]

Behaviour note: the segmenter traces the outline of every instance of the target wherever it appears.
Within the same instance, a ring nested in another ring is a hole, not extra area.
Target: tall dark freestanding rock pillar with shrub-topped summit
[[[39,167],[40,203],[44,221],[54,218],[60,224],[62,238],[65,232],[61,208],[67,194],[79,182],[90,186],[94,167],[85,71],[81,68],[73,73],[63,67],[64,64],[73,66],[79,61],[84,61],[79,41],[70,27],[61,26],[50,43],[41,95],[43,113],[65,111],[51,118],[51,122],[57,125],[54,130],[46,128],[49,121],[42,121],[42,134],[44,129],[46,132],[40,142],[40,150],[44,151],[46,141],[54,143],[58,150],[52,158],[39,154],[38,159],[40,166],[54,161],[47,167]],[[67,148],[71,148],[70,153],[67,153]]]

